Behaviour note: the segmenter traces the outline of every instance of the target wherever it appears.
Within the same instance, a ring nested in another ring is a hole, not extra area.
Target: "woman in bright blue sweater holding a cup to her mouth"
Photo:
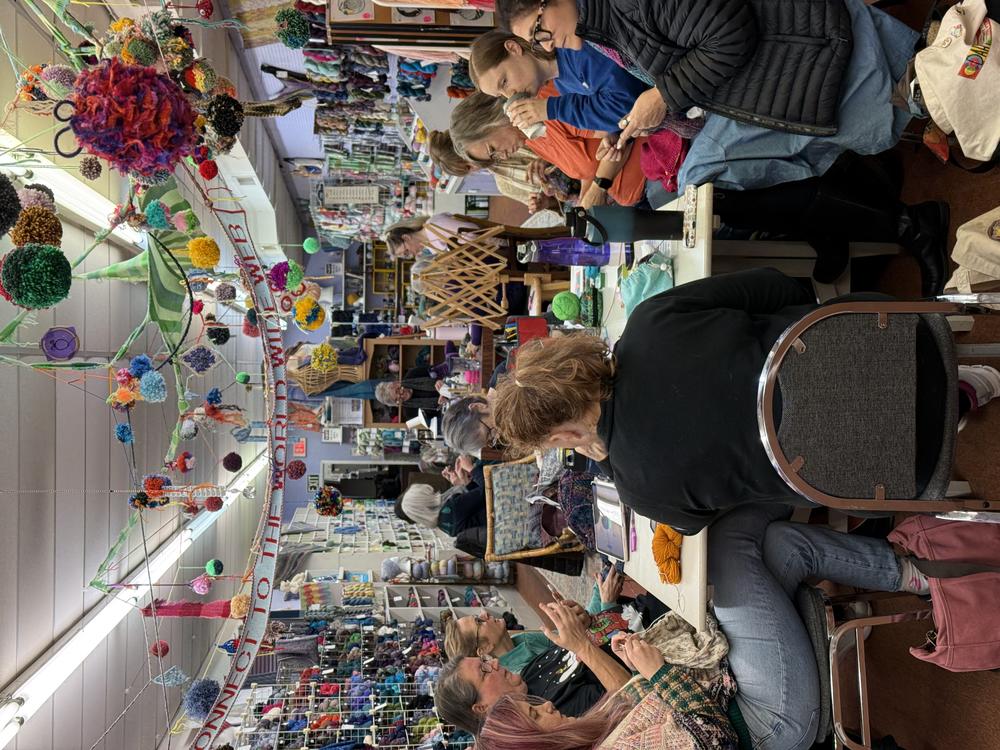
[[[618,121],[647,88],[593,47],[550,52],[500,29],[473,42],[469,74],[484,94],[524,97],[507,110],[521,129],[558,120],[581,130],[617,131]],[[536,98],[550,81],[559,96]]]

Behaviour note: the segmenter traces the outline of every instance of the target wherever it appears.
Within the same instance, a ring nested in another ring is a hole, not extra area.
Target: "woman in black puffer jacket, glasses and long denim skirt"
[[[805,179],[844,151],[876,154],[899,140],[910,114],[893,107],[892,89],[917,33],[863,0],[786,10],[779,0],[497,3],[499,25],[534,46],[589,44],[646,81],[619,145],[668,115],[705,114],[681,189]]]

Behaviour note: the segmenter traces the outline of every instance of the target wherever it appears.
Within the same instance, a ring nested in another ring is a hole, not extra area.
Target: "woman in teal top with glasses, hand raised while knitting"
[[[622,590],[622,579],[614,568],[594,585],[590,603],[586,610],[579,608],[581,615],[586,612],[592,617],[618,606],[618,596]],[[444,649],[448,658],[463,656],[492,655],[506,669],[520,674],[528,662],[545,653],[555,644],[537,630],[511,633],[502,617],[494,617],[483,611],[473,617],[459,617],[445,626]]]

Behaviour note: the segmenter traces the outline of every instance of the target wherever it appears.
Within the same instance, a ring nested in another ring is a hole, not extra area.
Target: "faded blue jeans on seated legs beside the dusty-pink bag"
[[[795,589],[816,577],[897,591],[900,569],[884,539],[788,523],[791,508],[747,505],[708,532],[715,616],[729,639],[736,702],[755,750],[805,750],[819,723],[819,675]]]

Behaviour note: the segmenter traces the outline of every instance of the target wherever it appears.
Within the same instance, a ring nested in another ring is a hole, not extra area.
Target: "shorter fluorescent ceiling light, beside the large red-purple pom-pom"
[[[25,149],[30,148],[20,139],[0,128],[0,150],[16,150],[22,146]],[[14,156],[13,152],[7,153],[0,157],[0,161],[14,161]],[[16,167],[4,167],[4,169],[9,169],[15,174],[20,170],[33,171],[34,174],[30,181],[40,182],[52,188],[52,192],[56,196],[56,205],[59,208],[75,214],[98,229],[107,228],[108,219],[115,210],[115,204],[45,156],[31,154],[31,163],[20,164]],[[128,224],[120,224],[115,228],[113,234],[129,244],[145,247],[143,233],[132,229]]]

